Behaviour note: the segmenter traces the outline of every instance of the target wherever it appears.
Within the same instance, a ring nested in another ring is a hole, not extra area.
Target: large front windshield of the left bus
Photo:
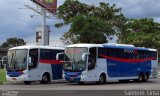
[[[27,68],[27,50],[16,49],[8,51],[7,71],[23,71]]]

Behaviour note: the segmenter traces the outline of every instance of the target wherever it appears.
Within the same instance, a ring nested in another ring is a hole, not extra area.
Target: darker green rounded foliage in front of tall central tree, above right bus
[[[105,43],[106,36],[112,33],[112,26],[99,18],[77,16],[64,36],[70,37],[73,43]]]

